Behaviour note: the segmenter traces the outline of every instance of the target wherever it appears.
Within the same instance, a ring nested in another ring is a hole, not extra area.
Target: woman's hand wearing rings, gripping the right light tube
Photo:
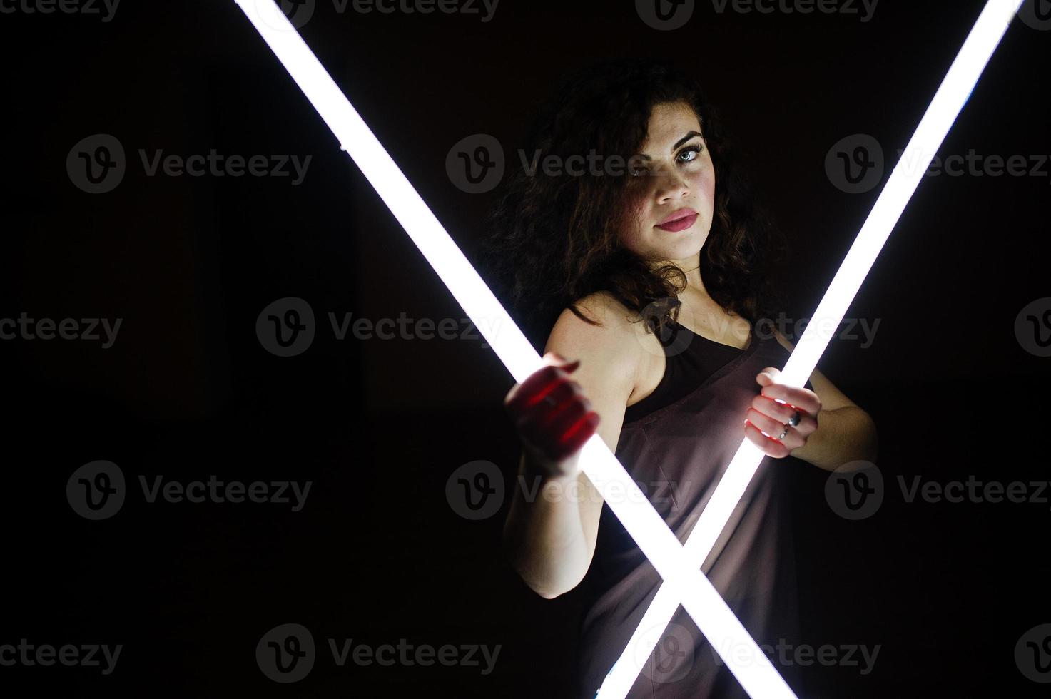
[[[753,399],[744,418],[745,435],[774,458],[784,458],[805,445],[806,438],[818,429],[818,413],[821,412],[817,393],[779,384],[780,375],[779,369],[766,367],[756,376],[763,389]],[[797,411],[799,424],[794,426],[789,423]]]

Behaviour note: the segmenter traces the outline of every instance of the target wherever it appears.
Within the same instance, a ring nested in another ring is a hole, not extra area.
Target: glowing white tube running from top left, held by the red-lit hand
[[[238,4],[515,381],[524,381],[543,366],[540,355],[281,9],[270,0],[239,0]],[[708,579],[698,567],[688,564],[682,544],[598,434],[581,450],[580,468],[748,695],[795,698]]]

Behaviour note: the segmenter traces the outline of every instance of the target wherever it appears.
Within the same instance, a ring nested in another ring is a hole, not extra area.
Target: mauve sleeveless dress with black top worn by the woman
[[[668,527],[685,542],[719,476],[744,438],[744,417],[761,387],[756,374],[784,367],[788,352],[757,332],[746,348],[722,345],[674,323],[660,340],[666,356],[655,391],[628,406],[616,455]],[[807,382],[806,387],[812,390]],[[794,665],[777,662],[781,639],[799,643],[796,566],[789,531],[788,479],[803,465],[764,458],[701,570],[789,685]],[[660,576],[602,506],[598,540],[584,577],[578,677],[592,698],[627,645]],[[659,636],[628,697],[747,697],[693,619],[679,607]]]

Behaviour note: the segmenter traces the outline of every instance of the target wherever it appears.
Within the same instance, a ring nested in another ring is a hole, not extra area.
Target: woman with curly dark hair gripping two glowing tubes
[[[547,366],[504,400],[522,443],[504,546],[542,597],[586,583],[579,691],[592,697],[660,583],[579,470],[592,434],[680,540],[742,438],[834,470],[873,460],[877,435],[821,372],[806,388],[778,383],[791,351],[768,324],[782,245],[694,82],[662,63],[595,65],[562,85],[531,141],[527,160],[549,166],[515,172],[487,246],[527,332],[548,329]],[[764,459],[702,567],[771,646],[798,625],[786,473]],[[745,696],[681,608],[650,647],[630,650],[650,656],[630,696]]]

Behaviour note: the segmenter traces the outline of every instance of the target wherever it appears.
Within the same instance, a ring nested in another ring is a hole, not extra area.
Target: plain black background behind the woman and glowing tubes
[[[337,14],[307,42],[474,260],[497,192],[468,194],[446,155],[472,133],[509,153],[537,100],[605,56],[674,58],[750,153],[792,242],[780,281],[812,311],[880,188],[847,194],[825,155],[852,133],[903,148],[982,7],[883,0],[857,15],[716,13],[648,27],[631,2],[502,0],[478,15]],[[116,672],[0,667],[6,696],[570,697],[578,595],[542,600],[498,555],[507,512],[459,517],[449,475],[476,459],[513,485],[512,385],[480,340],[337,341],[327,313],[461,318],[356,167],[232,2],[125,0],[112,20],[0,15],[4,65],[0,317],[121,317],[115,345],[0,342],[4,371],[0,643],[123,643]],[[942,155],[1051,153],[1048,41],[1018,21]],[[66,157],[117,137],[127,173],[89,194]],[[138,150],[311,156],[306,178],[147,177]],[[509,156],[510,159],[510,156]],[[889,174],[889,167],[887,168]],[[880,644],[874,671],[805,670],[807,697],[1037,696],[1014,644],[1051,621],[1051,505],[906,503],[898,476],[1047,479],[1047,358],[1014,334],[1051,295],[1042,177],[931,177],[850,315],[875,342],[833,342],[820,368],[880,430],[880,511],[833,514],[826,473],[796,497],[805,640]],[[886,177],[886,176],[885,176]],[[317,316],[312,346],[267,352],[255,320],[284,296]],[[65,498],[107,459],[131,487],[114,517]],[[147,503],[138,476],[311,480],[306,507]],[[495,671],[334,667],[279,685],[260,637],[296,622],[379,644],[501,645]],[[1043,691],[1043,692],[1042,692]]]

